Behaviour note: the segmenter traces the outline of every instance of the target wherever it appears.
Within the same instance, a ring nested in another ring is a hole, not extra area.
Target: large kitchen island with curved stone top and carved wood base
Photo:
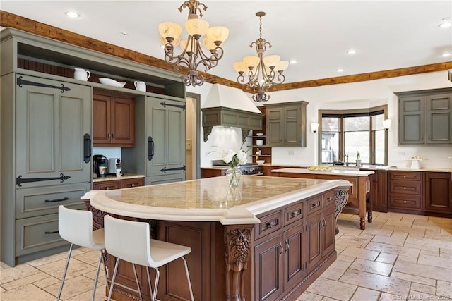
[[[295,300],[336,258],[335,219],[349,188],[345,180],[242,176],[230,189],[226,177],[215,177],[91,191],[83,199],[98,218],[148,221],[155,238],[191,247],[196,300]],[[135,288],[131,267],[119,269],[119,281]],[[138,274],[148,297],[145,269]],[[159,300],[189,300],[180,262],[160,278]],[[114,300],[133,295],[114,288]]]

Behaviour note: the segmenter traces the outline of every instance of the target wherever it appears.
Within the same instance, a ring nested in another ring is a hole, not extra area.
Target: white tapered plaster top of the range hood
[[[252,113],[261,113],[246,94],[237,88],[213,84],[202,108],[230,108]]]

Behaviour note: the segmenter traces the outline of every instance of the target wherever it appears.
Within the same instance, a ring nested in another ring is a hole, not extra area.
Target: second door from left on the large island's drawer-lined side
[[[297,226],[290,228],[284,233],[285,257],[284,257],[284,285],[291,287],[299,278],[304,275],[305,250],[304,224],[297,223]]]

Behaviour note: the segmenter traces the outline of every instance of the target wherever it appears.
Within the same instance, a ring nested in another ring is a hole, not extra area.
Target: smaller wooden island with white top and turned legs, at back
[[[364,230],[366,228],[366,213],[367,221],[372,222],[372,203],[367,202],[370,192],[369,176],[374,171],[359,171],[353,169],[318,169],[309,170],[307,168],[280,168],[273,169],[272,174],[280,177],[290,178],[310,178],[310,179],[324,179],[324,180],[347,180],[352,183],[352,189],[348,198],[347,206],[350,210],[356,210],[359,214],[359,228]]]

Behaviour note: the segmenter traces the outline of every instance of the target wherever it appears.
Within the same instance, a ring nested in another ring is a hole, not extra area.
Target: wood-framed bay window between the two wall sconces
[[[338,161],[355,165],[387,164],[387,137],[383,128],[386,106],[365,111],[319,111],[321,164]]]

